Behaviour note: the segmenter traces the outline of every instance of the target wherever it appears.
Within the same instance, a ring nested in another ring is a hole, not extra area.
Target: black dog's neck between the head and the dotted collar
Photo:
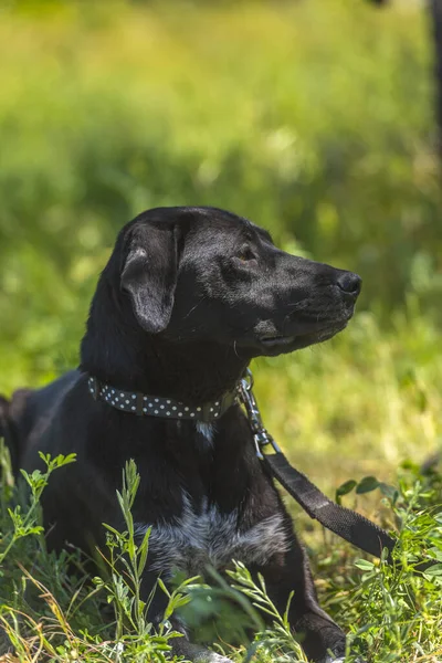
[[[106,316],[94,298],[81,347],[81,369],[125,390],[201,404],[231,391],[249,359],[213,341],[168,341],[146,334],[122,312]],[[115,315],[114,314],[114,315]]]

